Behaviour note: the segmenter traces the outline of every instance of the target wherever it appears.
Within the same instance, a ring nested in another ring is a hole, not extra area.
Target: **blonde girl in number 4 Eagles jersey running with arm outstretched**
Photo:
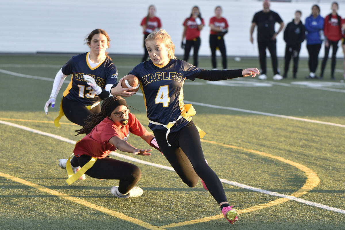
[[[205,133],[192,121],[195,110],[183,102],[183,84],[195,78],[217,81],[259,74],[257,68],[237,70],[201,70],[175,58],[175,45],[169,34],[159,30],[145,40],[150,60],[138,64],[129,74],[135,75],[144,94],[149,128],[158,146],[189,187],[195,187],[199,177],[205,189],[219,204],[225,218],[234,223],[236,211],[229,205],[216,173],[208,166],[200,137]],[[113,86],[115,87],[115,86]],[[111,93],[115,93],[111,90]]]

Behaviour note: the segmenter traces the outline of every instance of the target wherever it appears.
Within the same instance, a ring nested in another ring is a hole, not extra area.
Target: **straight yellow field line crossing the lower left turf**
[[[13,177],[13,176],[11,176],[9,174],[6,174],[6,173],[0,172],[0,176],[4,177],[4,178],[7,178],[7,179],[10,179],[10,180],[13,180],[13,181],[16,181],[18,183],[24,184],[26,186],[30,186],[32,188],[41,190],[42,192],[50,193],[50,194],[52,194],[54,196],[57,196],[57,197],[59,197],[61,199],[66,199],[66,200],[69,200],[69,201],[81,204],[83,206],[86,206],[88,208],[96,209],[96,210],[98,210],[100,212],[103,212],[103,213],[106,213],[106,214],[108,214],[110,216],[113,216],[113,217],[119,218],[121,220],[125,220],[125,221],[128,221],[128,222],[137,224],[137,225],[139,225],[141,227],[144,227],[144,228],[147,228],[147,229],[152,229],[152,230],[164,229],[162,227],[157,227],[157,226],[154,226],[152,224],[146,223],[144,221],[141,221],[141,220],[138,220],[138,219],[135,219],[135,218],[132,218],[132,217],[128,217],[125,214],[122,214],[121,212],[113,211],[113,210],[110,210],[110,209],[98,206],[97,204],[93,204],[91,202],[88,202],[88,201],[85,201],[85,200],[82,200],[82,199],[79,199],[79,198],[76,198],[76,197],[71,197],[68,194],[64,194],[64,193],[61,193],[61,192],[58,192],[58,191],[55,191],[55,190],[52,190],[52,189],[48,189],[46,187],[40,186],[38,184],[31,183],[31,182],[23,180],[21,178]]]

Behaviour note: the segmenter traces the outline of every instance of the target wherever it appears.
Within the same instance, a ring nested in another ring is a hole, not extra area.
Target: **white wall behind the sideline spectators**
[[[11,0],[2,2],[0,19],[0,52],[68,52],[81,53],[89,48],[83,39],[93,29],[105,29],[111,38],[110,53],[141,54],[141,19],[147,7],[154,4],[163,29],[176,45],[175,53],[181,55],[182,23],[194,5],[199,6],[206,27],[201,31],[200,55],[210,55],[208,44],[210,17],[217,5],[223,7],[223,17],[230,25],[226,34],[228,56],[257,56],[257,44],[249,42],[249,28],[255,12],[262,9],[262,2],[255,0]],[[311,13],[311,2],[271,2],[271,9],[278,12],[285,24],[294,17],[295,10],[302,11],[304,19]],[[331,3],[319,3],[321,15],[330,13]],[[345,4],[340,3],[339,14],[345,16]],[[278,29],[278,24],[276,24]],[[283,33],[277,37],[277,53],[284,56]],[[254,32],[256,40],[256,31]],[[267,52],[268,53],[268,52]],[[321,49],[320,57],[324,49]],[[338,57],[343,56],[339,49]],[[301,57],[307,57],[305,42]]]

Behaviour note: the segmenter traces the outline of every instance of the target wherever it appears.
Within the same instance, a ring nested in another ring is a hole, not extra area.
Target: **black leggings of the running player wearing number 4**
[[[154,131],[154,135],[160,150],[183,182],[189,187],[195,187],[200,177],[218,204],[227,202],[218,176],[205,161],[199,132],[193,121],[180,131],[169,133],[170,147],[166,140],[166,132]]]

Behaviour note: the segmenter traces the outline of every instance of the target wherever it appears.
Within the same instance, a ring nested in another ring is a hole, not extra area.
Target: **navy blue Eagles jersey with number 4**
[[[152,61],[138,64],[129,74],[140,80],[140,88],[144,94],[145,107],[149,120],[167,125],[174,122],[185,109],[183,103],[183,84],[185,79],[194,81],[201,69],[181,60],[171,59],[162,68],[155,66]],[[188,121],[178,120],[171,132],[184,127]],[[151,130],[166,131],[163,126],[149,124]]]

